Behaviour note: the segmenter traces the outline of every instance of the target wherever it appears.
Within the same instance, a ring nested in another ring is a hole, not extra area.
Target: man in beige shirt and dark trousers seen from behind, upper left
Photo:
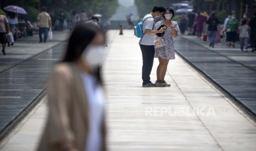
[[[39,27],[39,43],[46,43],[48,38],[48,32],[52,27],[52,21],[50,15],[46,12],[46,8],[42,8],[42,12],[37,16],[37,26]],[[42,38],[43,34],[43,38]]]

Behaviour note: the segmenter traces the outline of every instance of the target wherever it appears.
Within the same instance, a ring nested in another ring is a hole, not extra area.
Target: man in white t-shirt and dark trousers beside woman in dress
[[[157,85],[150,81],[150,74],[154,63],[155,47],[154,47],[154,35],[156,33],[163,33],[165,30],[154,30],[155,21],[154,18],[160,17],[165,12],[165,8],[161,5],[155,6],[152,11],[145,15],[143,18],[143,32],[144,36],[139,41],[139,46],[142,53],[143,65],[142,65],[142,79],[143,87],[155,87]]]

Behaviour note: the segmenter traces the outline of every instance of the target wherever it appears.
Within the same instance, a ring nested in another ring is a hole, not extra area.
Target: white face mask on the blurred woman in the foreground
[[[84,50],[84,53],[82,54],[83,61],[91,69],[96,69],[97,67],[101,66],[102,62],[105,59],[106,53],[106,48],[103,45],[88,45],[88,47]]]

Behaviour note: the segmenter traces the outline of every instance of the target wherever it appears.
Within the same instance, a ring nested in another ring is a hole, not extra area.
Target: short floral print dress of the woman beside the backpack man
[[[179,26],[177,22],[172,21],[172,24],[175,30],[178,32]],[[164,21],[157,22],[154,27],[154,30],[157,30],[161,25],[164,25]],[[156,35],[155,35],[155,38],[157,38]],[[173,37],[171,33],[171,27],[167,26],[167,29],[165,30],[165,34],[161,38],[164,39],[165,47],[155,48],[155,57],[161,57],[162,59],[168,59],[168,60],[175,59],[175,48],[174,48],[174,42],[173,42]]]

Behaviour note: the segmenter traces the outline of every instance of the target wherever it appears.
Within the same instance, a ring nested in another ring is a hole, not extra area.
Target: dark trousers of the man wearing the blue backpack
[[[142,80],[143,84],[150,83],[150,73],[152,71],[155,55],[154,45],[142,45],[140,44],[142,53],[143,65],[142,65]]]

